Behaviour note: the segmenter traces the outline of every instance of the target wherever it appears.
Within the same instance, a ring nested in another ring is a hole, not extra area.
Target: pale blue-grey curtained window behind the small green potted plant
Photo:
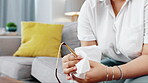
[[[14,22],[20,32],[21,21],[35,20],[35,0],[0,0],[0,27]]]

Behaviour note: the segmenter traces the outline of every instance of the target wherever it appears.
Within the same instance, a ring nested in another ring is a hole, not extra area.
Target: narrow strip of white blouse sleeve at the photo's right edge
[[[148,3],[145,5],[144,18],[144,44],[148,44]]]

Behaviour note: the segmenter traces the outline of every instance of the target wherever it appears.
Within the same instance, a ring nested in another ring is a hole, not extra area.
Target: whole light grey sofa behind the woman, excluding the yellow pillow
[[[58,23],[59,24],[59,23]],[[72,49],[80,46],[77,39],[77,22],[64,24],[62,42]],[[53,83],[55,78],[56,57],[14,57],[12,56],[21,44],[21,37],[0,37],[0,75],[9,76],[26,83]],[[62,47],[62,57],[70,52]],[[62,62],[59,59],[58,77],[61,82],[68,82],[62,72]]]

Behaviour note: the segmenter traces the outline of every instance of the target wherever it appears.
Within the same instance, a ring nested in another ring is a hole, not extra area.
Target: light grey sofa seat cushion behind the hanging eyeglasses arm
[[[37,57],[32,63],[31,74],[42,83],[56,83],[55,66],[57,58],[54,57]],[[58,65],[58,77],[62,83],[68,82],[62,71],[61,59]]]

